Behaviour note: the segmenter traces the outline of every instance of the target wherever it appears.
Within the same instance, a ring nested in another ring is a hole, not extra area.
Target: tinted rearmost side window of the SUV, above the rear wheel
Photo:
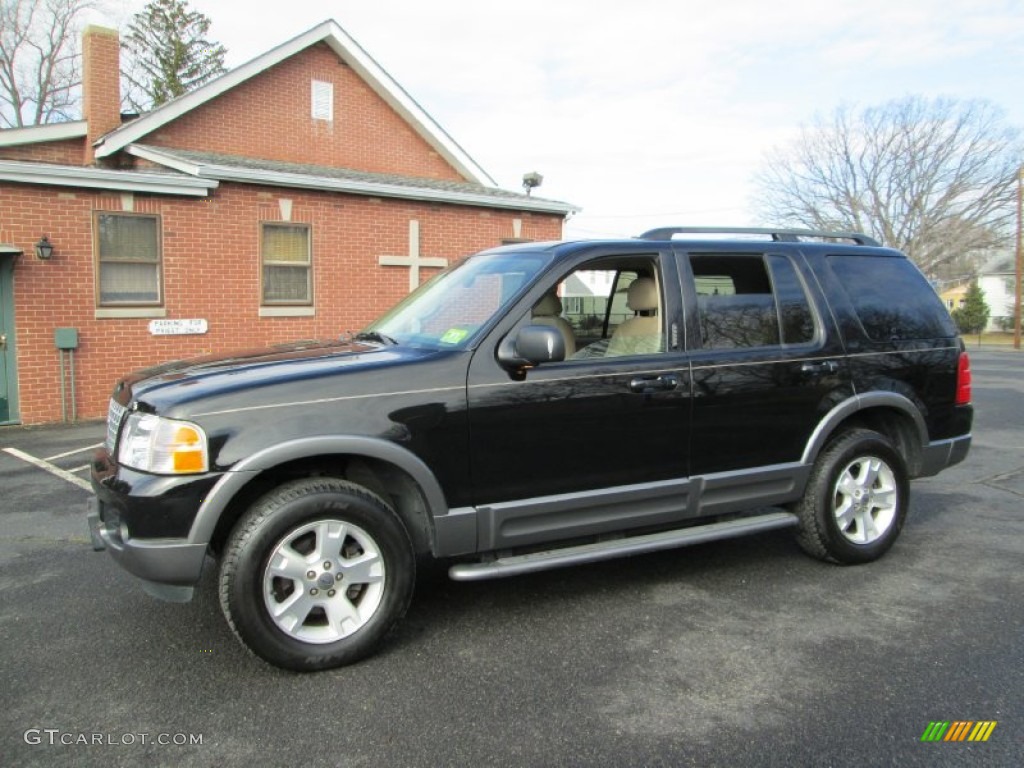
[[[828,264],[872,341],[956,335],[941,299],[909,259],[829,256]]]

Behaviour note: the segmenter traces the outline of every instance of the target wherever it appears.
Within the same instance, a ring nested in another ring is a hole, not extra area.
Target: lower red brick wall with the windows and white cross
[[[295,142],[301,146],[301,142]],[[259,222],[311,225],[315,316],[260,317]],[[0,242],[25,250],[14,268],[14,328],[20,416],[57,421],[59,357],[53,331],[77,328],[79,418],[101,417],[115,379],[160,361],[294,339],[336,338],[401,298],[409,269],[378,256],[409,252],[409,221],[420,222],[420,253],[450,260],[498,245],[521,219],[522,237],[556,240],[561,217],[463,206],[378,200],[331,193],[221,184],[209,200],[135,196],[136,213],[161,216],[168,318],[206,318],[203,336],[151,336],[147,318],[95,317],[93,212],[120,211],[120,195],[0,184]],[[33,255],[43,233],[51,261]],[[426,280],[432,270],[424,270]],[[70,410],[70,409],[69,409]]]

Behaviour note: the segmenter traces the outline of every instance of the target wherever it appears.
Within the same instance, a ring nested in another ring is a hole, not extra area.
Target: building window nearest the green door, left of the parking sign
[[[155,305],[160,280],[160,217],[96,214],[99,305]]]

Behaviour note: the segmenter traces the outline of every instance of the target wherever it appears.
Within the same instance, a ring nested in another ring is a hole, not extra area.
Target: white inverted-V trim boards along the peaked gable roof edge
[[[216,98],[250,78],[259,75],[310,45],[326,42],[391,109],[395,110],[420,136],[433,146],[456,170],[471,181],[494,185],[495,180],[459,146],[427,112],[399,86],[377,61],[336,22],[324,22],[261,56],[231,70],[190,93],[169,101],[100,138],[97,158],[105,158],[138,141],[148,133],[187,112]]]

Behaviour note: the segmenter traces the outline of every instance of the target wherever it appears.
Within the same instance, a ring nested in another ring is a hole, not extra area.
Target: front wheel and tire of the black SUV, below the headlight
[[[296,672],[373,653],[404,614],[416,558],[380,497],[331,477],[286,483],[234,526],[220,566],[220,604],[234,634]]]

